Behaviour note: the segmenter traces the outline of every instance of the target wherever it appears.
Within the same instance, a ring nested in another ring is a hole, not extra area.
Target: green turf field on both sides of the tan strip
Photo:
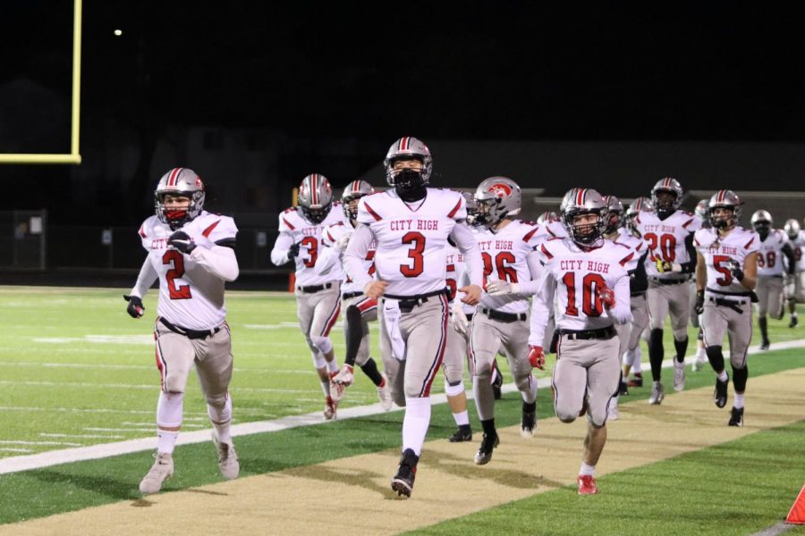
[[[121,294],[112,289],[0,288],[0,321],[7,328],[0,335],[0,456],[154,435],[159,378],[151,323],[156,300],[150,295],[146,316],[134,321],[125,314]],[[296,325],[292,297],[232,292],[227,306],[236,367],[231,387],[236,423],[320,412],[323,395]],[[750,357],[751,375],[805,366],[801,349],[774,350],[775,342],[802,338],[801,329],[789,330],[786,324],[787,319],[770,322],[772,351]],[[342,333],[333,335],[336,355],[342,356]],[[693,339],[691,330],[689,355],[694,351]],[[670,339],[665,348],[670,354]],[[645,356],[644,348],[644,363]],[[553,358],[548,356],[548,361],[552,363]],[[713,381],[708,369],[688,374],[690,388]],[[192,376],[190,383],[183,430],[207,429],[206,407]],[[441,391],[439,383],[436,391]],[[622,404],[645,398],[648,388],[631,389]],[[519,400],[511,393],[498,403],[496,419],[501,426],[519,422]],[[376,401],[374,387],[359,377],[342,407]],[[540,391],[538,413],[541,418],[553,415],[548,389]],[[470,403],[470,418],[478,429],[474,415]],[[236,440],[242,474],[395,448],[401,421],[402,412],[391,412],[243,436]],[[428,439],[445,437],[452,430],[447,406],[436,406]],[[511,533],[756,532],[782,520],[801,488],[803,431],[803,423],[795,423],[753,434],[734,445],[607,475],[601,479],[607,495],[595,505],[586,504],[584,516],[578,515],[573,490],[563,489],[420,532],[495,533],[502,525],[511,527],[507,530]],[[182,464],[182,472],[166,490],[219,482],[211,449],[209,443],[178,448],[177,464],[182,459],[195,461]],[[139,452],[0,475],[0,523],[137,499],[137,482],[148,466],[146,456]]]

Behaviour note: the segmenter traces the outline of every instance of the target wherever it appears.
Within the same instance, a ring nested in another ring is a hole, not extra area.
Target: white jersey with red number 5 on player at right
[[[715,229],[697,230],[693,244],[704,256],[708,267],[707,289],[716,294],[747,296],[750,290],[733,278],[728,264],[731,260],[737,261],[742,269],[746,257],[758,251],[759,241],[758,233],[742,227],[734,228],[724,238],[719,238]]]

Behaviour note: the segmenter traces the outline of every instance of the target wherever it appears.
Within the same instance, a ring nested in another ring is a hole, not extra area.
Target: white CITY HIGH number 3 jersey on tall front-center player
[[[388,281],[386,294],[414,296],[445,289],[447,237],[466,219],[464,197],[453,190],[428,188],[424,200],[410,205],[394,188],[361,197],[358,222],[374,233],[375,269],[378,279]]]

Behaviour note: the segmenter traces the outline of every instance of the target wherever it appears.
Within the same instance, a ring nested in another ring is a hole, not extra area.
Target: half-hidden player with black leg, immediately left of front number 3
[[[335,222],[322,232],[321,242],[324,247],[314,266],[320,276],[325,276],[335,267],[343,264],[343,251],[352,237],[352,231],[358,224],[358,200],[360,197],[375,193],[375,188],[366,180],[352,180],[343,188],[341,207],[343,222]],[[369,249],[364,259],[364,268],[369,275],[375,273],[375,249]],[[377,301],[363,294],[349,277],[343,276],[341,285],[341,308],[343,314],[343,336],[346,339],[346,355],[343,358],[341,371],[332,378],[332,382],[347,388],[355,381],[354,367],[357,363],[360,370],[369,377],[377,388],[377,398],[386,411],[393,406],[391,392],[388,389],[386,374],[377,370],[377,363],[369,356],[369,322],[377,320]],[[332,391],[333,389],[331,389]]]

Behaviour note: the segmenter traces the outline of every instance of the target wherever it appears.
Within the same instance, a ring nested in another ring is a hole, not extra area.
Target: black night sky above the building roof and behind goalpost
[[[71,4],[4,6],[0,81],[69,87]],[[85,2],[84,112],[328,137],[803,138],[799,18],[757,3],[199,4]]]

